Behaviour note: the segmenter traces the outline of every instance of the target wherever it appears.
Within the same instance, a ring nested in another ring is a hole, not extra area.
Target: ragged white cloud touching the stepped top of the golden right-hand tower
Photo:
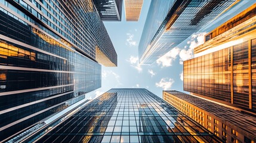
[[[202,45],[205,41],[205,32],[203,33],[196,33],[191,36],[190,41],[187,41],[189,44],[189,49],[187,46],[184,46],[184,49],[180,51],[180,64],[183,64],[183,61],[189,60],[193,58],[193,50],[199,45]],[[187,49],[187,50],[186,50]]]

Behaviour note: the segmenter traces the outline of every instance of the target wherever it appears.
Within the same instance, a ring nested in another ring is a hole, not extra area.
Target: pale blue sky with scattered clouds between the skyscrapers
[[[122,21],[104,22],[118,54],[118,67],[102,66],[101,88],[92,91],[87,98],[94,98],[111,88],[146,88],[161,98],[163,90],[183,91],[182,61],[193,58],[193,48],[203,43],[206,32],[254,3],[255,1],[251,0],[240,1],[236,7],[221,15],[215,22],[203,27],[198,33],[194,33],[150,66],[138,63],[138,43],[149,11],[150,1],[144,0],[140,19],[137,22],[125,21],[123,7]]]

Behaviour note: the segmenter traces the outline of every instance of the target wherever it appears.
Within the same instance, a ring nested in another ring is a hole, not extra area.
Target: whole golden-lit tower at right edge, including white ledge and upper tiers
[[[184,91],[256,115],[256,4],[212,30],[184,61]]]

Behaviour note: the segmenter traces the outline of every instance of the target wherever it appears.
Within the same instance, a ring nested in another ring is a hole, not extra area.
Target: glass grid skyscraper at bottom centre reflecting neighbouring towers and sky
[[[221,142],[146,89],[110,89],[35,142]]]

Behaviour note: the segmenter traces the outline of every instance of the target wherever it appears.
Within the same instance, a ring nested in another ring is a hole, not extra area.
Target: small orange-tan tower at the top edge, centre
[[[143,0],[125,0],[125,18],[127,21],[138,21]]]

